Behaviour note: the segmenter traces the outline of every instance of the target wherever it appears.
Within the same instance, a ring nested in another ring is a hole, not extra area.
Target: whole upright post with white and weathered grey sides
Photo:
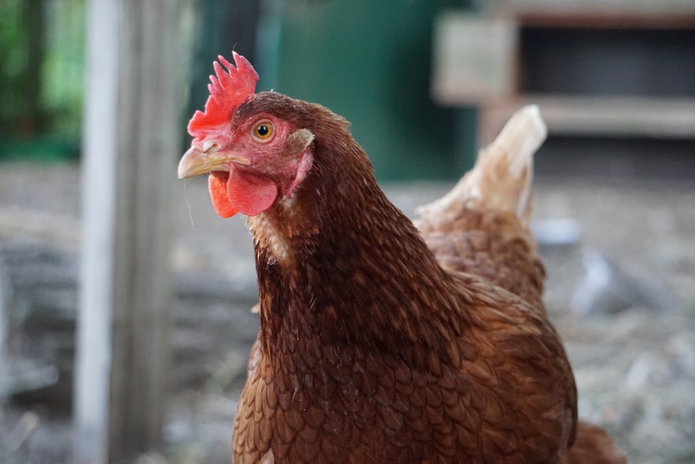
[[[170,199],[183,125],[180,0],[91,0],[74,461],[161,444]]]

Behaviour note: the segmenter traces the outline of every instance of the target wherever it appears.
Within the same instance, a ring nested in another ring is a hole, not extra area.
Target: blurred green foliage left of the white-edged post
[[[84,63],[85,0],[0,1],[0,156],[39,139],[74,152]]]

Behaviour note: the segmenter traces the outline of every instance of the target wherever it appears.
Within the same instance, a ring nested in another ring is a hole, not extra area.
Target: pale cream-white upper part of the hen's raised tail
[[[477,161],[442,198],[418,208],[421,221],[454,221],[470,207],[516,214],[524,227],[531,214],[533,155],[546,139],[538,106],[517,111],[495,141],[480,150]]]

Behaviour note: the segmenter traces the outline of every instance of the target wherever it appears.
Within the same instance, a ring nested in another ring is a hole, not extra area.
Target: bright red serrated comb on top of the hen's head
[[[195,138],[205,136],[206,127],[215,127],[227,122],[231,112],[256,91],[259,75],[254,67],[236,51],[232,52],[232,57],[236,66],[229,63],[223,56],[218,56],[219,62],[213,62],[217,77],[210,77],[211,83],[208,83],[210,96],[205,103],[205,111],[196,111],[188,122],[188,134]],[[220,63],[227,68],[227,71]]]

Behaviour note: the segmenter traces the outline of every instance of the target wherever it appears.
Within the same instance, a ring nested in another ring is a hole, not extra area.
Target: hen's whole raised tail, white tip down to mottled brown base
[[[444,269],[475,274],[543,312],[546,276],[528,229],[533,155],[546,137],[537,106],[518,111],[459,183],[414,223]]]

